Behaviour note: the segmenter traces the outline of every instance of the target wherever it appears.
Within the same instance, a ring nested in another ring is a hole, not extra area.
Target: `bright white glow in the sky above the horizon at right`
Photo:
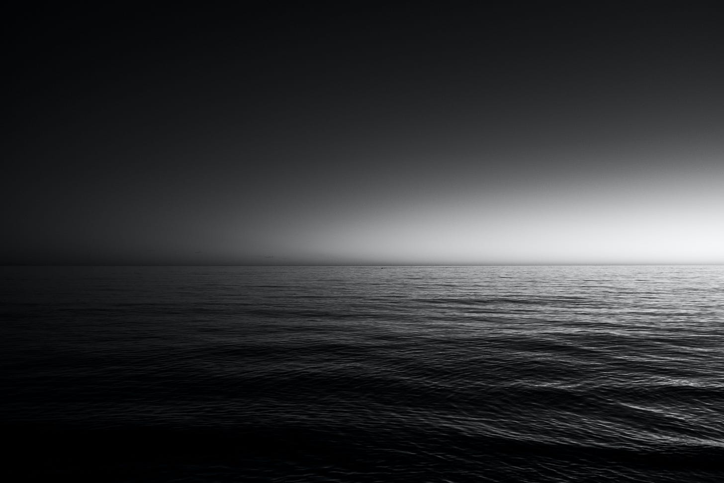
[[[297,256],[362,264],[723,263],[719,184],[670,177],[400,203],[317,227]]]

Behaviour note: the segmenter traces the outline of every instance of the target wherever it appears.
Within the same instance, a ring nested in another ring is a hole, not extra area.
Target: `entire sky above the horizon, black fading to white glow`
[[[11,12],[0,264],[724,263],[716,9],[342,3]]]

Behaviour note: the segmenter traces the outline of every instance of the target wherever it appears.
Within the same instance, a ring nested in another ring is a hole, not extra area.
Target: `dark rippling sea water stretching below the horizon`
[[[724,481],[722,266],[0,270],[12,481]]]

